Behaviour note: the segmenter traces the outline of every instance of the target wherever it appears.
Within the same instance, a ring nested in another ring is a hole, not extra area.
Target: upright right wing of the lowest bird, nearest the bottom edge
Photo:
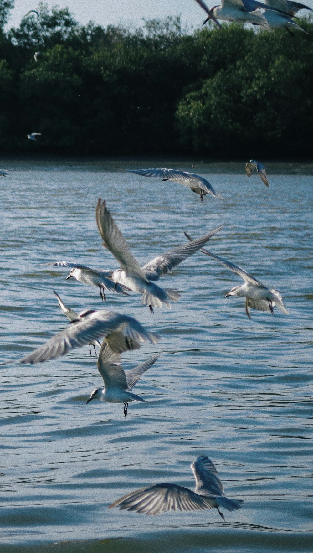
[[[197,457],[191,465],[196,479],[196,493],[208,492],[210,495],[224,495],[223,484],[217,476],[217,470],[206,455]]]

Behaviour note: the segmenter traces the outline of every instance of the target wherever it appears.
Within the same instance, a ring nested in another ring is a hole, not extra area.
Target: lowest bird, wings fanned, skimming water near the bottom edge
[[[217,476],[217,470],[211,459],[206,455],[197,457],[191,470],[196,480],[194,492],[177,484],[155,484],[148,488],[140,488],[128,493],[111,505],[119,510],[137,511],[147,515],[159,515],[169,510],[197,511],[216,508],[223,520],[225,517],[219,507],[228,511],[241,509],[241,499],[228,499],[225,496],[223,484]]]

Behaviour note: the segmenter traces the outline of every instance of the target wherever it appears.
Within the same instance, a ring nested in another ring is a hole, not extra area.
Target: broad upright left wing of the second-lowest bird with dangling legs
[[[121,364],[121,354],[113,352],[106,340],[103,340],[97,360],[106,389],[119,388],[126,390],[127,380]]]

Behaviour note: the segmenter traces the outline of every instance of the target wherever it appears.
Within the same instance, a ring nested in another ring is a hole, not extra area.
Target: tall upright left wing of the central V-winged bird
[[[122,269],[139,275],[148,283],[143,270],[131,253],[123,234],[114,222],[111,213],[108,211],[106,202],[102,201],[101,198],[98,199],[96,207],[96,221],[103,246],[114,255]]]

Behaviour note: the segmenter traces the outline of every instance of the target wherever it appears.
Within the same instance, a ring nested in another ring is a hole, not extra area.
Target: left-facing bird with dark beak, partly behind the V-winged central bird
[[[78,265],[77,263],[71,263],[69,261],[51,261],[50,263],[45,263],[45,265],[52,265],[53,267],[71,267],[71,272],[66,276],[65,280],[69,280],[73,277],[84,284],[98,286],[102,301],[106,301],[105,290],[111,290],[117,294],[128,296],[126,290],[129,290],[129,288],[113,282],[111,279],[111,271],[96,271],[95,269],[86,267],[86,265]]]

